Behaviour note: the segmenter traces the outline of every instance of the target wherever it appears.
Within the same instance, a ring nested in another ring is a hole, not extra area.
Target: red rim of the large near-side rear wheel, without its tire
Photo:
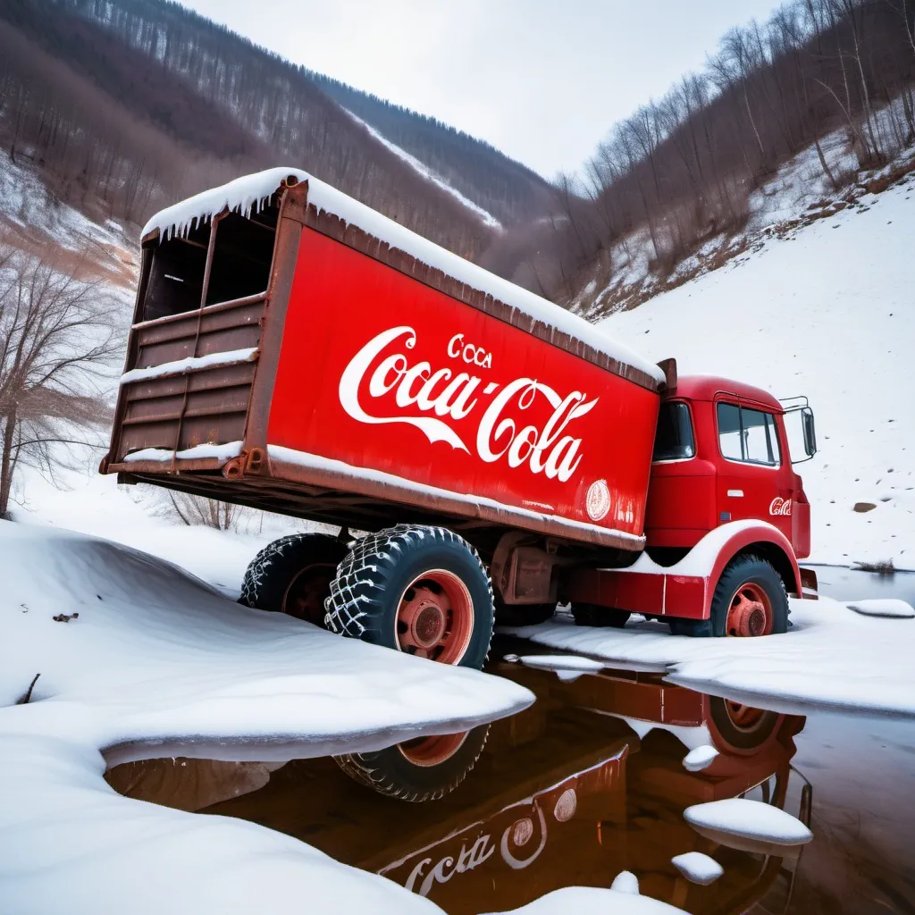
[[[473,634],[467,585],[446,569],[424,572],[404,588],[394,625],[400,651],[457,664]]]

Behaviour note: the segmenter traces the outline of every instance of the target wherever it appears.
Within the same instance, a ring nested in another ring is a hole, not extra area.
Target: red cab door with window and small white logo
[[[718,523],[754,519],[791,540],[791,461],[775,414],[738,399],[716,401]]]

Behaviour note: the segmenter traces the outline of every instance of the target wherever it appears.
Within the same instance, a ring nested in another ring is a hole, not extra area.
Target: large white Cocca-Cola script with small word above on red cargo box
[[[534,378],[484,382],[465,366],[490,369],[492,354],[462,334],[445,348],[453,369],[411,363],[408,351],[416,342],[414,328],[390,328],[353,356],[339,381],[347,414],[366,425],[412,425],[430,443],[447,442],[487,463],[504,459],[512,469],[526,466],[547,479],[571,479],[581,463],[582,439],[566,430],[599,398],[589,401],[581,391],[563,397]],[[525,424],[525,415],[540,419]]]

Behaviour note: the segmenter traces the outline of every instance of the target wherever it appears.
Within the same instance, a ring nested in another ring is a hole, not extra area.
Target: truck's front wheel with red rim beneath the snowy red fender
[[[757,555],[737,556],[721,573],[709,619],[670,619],[673,635],[755,637],[788,631],[788,594],[781,576]]]

